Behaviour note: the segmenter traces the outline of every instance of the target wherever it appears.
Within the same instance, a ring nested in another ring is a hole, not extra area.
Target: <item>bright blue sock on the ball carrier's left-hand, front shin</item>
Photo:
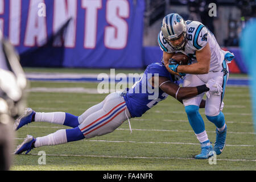
[[[189,105],[185,106],[185,111],[188,115],[188,121],[195,131],[195,134],[200,134],[205,131],[204,120],[199,113],[199,106]]]

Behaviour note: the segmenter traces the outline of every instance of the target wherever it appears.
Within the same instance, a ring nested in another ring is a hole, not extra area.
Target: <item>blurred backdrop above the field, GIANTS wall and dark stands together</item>
[[[162,18],[178,13],[185,20],[202,22],[222,49],[234,52],[231,73],[247,73],[239,38],[256,14],[255,4],[254,0],[0,0],[0,30],[17,49],[23,67],[143,69],[162,57],[157,42]],[[213,10],[215,15],[210,16]]]

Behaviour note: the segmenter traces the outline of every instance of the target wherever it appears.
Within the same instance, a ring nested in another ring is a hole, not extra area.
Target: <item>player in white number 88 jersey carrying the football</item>
[[[172,74],[185,76],[183,86],[197,86],[213,78],[222,85],[222,94],[208,94],[205,104],[205,115],[216,125],[216,142],[212,147],[199,113],[199,105],[204,93],[183,100],[188,121],[201,144],[201,153],[196,159],[207,159],[213,151],[220,155],[225,147],[226,124],[220,110],[224,98],[229,69],[226,60],[231,61],[234,55],[224,52],[218,45],[212,32],[202,23],[184,19],[179,14],[168,14],[163,18],[158,43],[163,51],[163,63]],[[191,57],[191,64],[179,65],[171,59],[176,52]]]

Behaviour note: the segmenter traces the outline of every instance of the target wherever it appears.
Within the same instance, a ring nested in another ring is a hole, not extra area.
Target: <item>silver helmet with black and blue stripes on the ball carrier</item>
[[[179,14],[172,13],[164,16],[161,30],[164,39],[176,51],[183,49],[188,42],[185,21]],[[184,37],[183,41],[178,46],[172,45],[170,41],[179,39],[180,36]]]

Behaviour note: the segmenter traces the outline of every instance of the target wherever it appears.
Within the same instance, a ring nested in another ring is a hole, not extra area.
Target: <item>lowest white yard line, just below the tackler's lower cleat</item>
[[[22,154],[24,155],[24,154]],[[37,155],[37,154],[27,154],[27,155]],[[72,155],[72,154],[46,154],[48,156],[75,156],[75,157],[92,157],[92,158],[125,158],[125,159],[185,159],[185,160],[196,160],[195,158],[170,158],[170,157],[146,157],[146,156],[110,156],[110,155]],[[216,160],[226,160],[226,161],[242,161],[242,162],[256,162],[256,160],[247,159],[216,159]]]

